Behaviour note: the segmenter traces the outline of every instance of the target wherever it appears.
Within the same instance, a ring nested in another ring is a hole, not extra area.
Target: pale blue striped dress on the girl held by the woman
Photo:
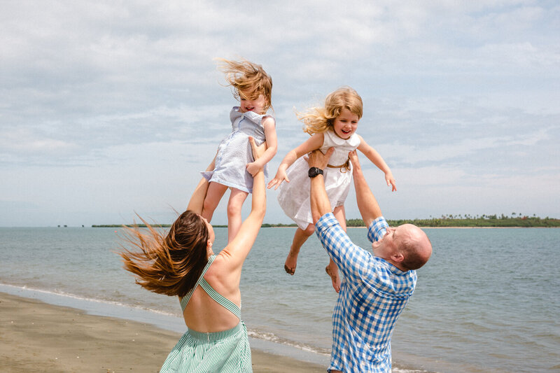
[[[254,161],[248,137],[253,136],[257,145],[265,141],[265,128],[262,127],[262,118],[265,116],[272,118],[272,115],[260,115],[253,111],[241,113],[239,106],[234,106],[230,111],[232,133],[218,146],[214,170],[202,171],[202,176],[209,182],[214,181],[252,193],[253,176],[245,168],[247,163]],[[268,177],[267,165],[265,165],[265,177]]]

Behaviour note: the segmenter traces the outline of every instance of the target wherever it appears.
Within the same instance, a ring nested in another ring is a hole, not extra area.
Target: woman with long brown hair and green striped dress
[[[265,146],[257,147],[252,137],[250,142],[257,159]],[[265,217],[265,176],[261,167],[253,180],[251,213],[235,239],[217,255],[212,250],[214,230],[201,216],[208,184],[202,178],[187,211],[167,235],[148,224],[148,232],[131,228],[124,245],[128,248],[120,252],[125,269],[137,276],[139,285],[179,297],[188,331],[167,356],[161,372],[252,372],[239,282]]]

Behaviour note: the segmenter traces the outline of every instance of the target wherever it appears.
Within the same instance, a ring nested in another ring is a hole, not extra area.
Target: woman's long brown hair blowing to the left
[[[197,213],[185,211],[164,235],[139,218],[148,232],[138,226],[126,227],[123,251],[119,253],[125,269],[135,274],[136,282],[147,290],[184,297],[208,262],[206,223]]]

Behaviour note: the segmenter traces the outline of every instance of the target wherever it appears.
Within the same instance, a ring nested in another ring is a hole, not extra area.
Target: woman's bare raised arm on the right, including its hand
[[[256,146],[255,140],[249,137],[251,146],[253,147],[253,155],[255,159],[265,153],[265,144]],[[228,246],[221,251],[220,255],[228,260],[228,267],[231,273],[241,275],[241,267],[247,257],[251,247],[255,243],[258,231],[262,225],[262,220],[265,218],[266,212],[266,189],[265,189],[265,173],[262,168],[257,172],[253,178],[253,197],[251,200],[251,212],[241,223],[239,232]]]

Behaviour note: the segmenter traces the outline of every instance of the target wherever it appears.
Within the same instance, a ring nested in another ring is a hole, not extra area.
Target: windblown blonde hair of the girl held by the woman
[[[257,99],[262,94],[267,103],[263,110],[266,112],[272,107],[272,78],[266,73],[262,66],[248,62],[230,61],[217,58],[220,62],[218,69],[225,73],[225,80],[233,87],[233,96],[240,99],[241,94],[247,99]]]

